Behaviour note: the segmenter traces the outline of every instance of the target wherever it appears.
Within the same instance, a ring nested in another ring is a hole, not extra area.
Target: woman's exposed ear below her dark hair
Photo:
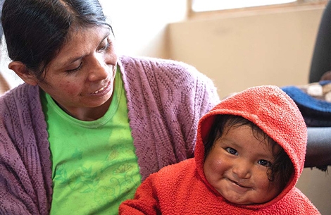
[[[35,86],[38,83],[36,76],[27,70],[27,67],[20,61],[13,61],[9,63],[9,69],[13,70],[24,82]]]

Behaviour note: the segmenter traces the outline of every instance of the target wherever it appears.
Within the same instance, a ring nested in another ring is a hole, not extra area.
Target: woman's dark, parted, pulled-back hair
[[[98,0],[5,0],[1,23],[8,56],[39,80],[68,39],[70,27],[111,28]]]

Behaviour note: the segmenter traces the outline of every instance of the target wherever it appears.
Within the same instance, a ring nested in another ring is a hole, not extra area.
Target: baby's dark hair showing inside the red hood
[[[280,147],[278,152],[275,152],[277,142],[275,142],[271,137],[264,133],[263,130],[261,130],[261,128],[259,128],[256,124],[252,123],[246,118],[243,118],[242,116],[215,116],[213,125],[211,126],[211,130],[208,134],[208,138],[206,142],[204,142],[204,159],[206,159],[206,156],[209,154],[209,152],[211,152],[211,149],[214,146],[214,142],[222,137],[224,132],[227,132],[230,128],[238,128],[242,125],[249,125],[254,137],[256,137],[257,140],[267,140],[271,146],[273,155],[275,156],[275,161],[270,166],[270,168],[268,168],[268,179],[273,182],[274,185],[279,185],[280,190],[283,190],[287,185],[289,178],[291,178],[294,172],[291,159],[289,159],[289,156],[286,154],[282,147]]]

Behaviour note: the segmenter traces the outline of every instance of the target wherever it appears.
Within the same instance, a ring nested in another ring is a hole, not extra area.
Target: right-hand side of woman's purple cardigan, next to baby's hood
[[[219,97],[212,80],[187,63],[121,56],[118,64],[144,180],[194,155],[197,123]]]

